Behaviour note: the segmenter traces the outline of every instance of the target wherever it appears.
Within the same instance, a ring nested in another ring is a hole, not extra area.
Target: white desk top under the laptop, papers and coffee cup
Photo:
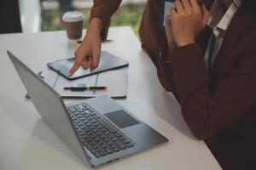
[[[101,169],[220,169],[203,141],[196,140],[183,121],[177,101],[160,86],[156,70],[130,27],[111,28],[102,45],[130,62],[127,99],[120,105],[165,135],[170,142]],[[76,44],[65,31],[0,35],[0,169],[85,169],[79,157],[38,116],[11,64],[9,49],[33,71],[73,55]],[[70,102],[65,101],[65,102]]]

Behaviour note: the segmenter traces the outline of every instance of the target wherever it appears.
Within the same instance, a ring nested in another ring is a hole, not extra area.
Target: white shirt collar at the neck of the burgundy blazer
[[[234,3],[236,3],[236,5]],[[220,3],[219,0],[214,1],[207,25],[213,29],[213,33],[216,37],[218,37],[219,34],[219,32],[217,31],[218,29],[226,31],[228,26],[230,26],[230,21],[236,14],[237,7],[241,5],[241,0],[234,0],[234,3],[231,3],[230,8],[228,8],[226,13],[224,14],[223,4]]]

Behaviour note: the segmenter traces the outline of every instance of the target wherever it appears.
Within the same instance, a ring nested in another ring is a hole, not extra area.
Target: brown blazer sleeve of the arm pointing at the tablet
[[[108,37],[111,16],[119,8],[122,0],[93,0],[93,7],[90,10],[90,20],[97,17],[102,20],[103,28],[101,31],[102,40]]]

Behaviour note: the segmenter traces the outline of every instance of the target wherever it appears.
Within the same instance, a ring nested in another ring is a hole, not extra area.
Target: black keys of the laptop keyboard
[[[67,109],[84,147],[90,150],[96,158],[134,146],[130,139],[126,139],[89,105],[75,105]]]

